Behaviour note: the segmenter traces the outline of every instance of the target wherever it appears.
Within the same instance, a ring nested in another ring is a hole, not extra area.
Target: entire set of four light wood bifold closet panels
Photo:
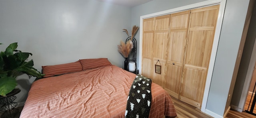
[[[204,95],[218,10],[215,5],[143,20],[142,75],[197,108]],[[161,74],[155,73],[155,64],[161,65]]]

